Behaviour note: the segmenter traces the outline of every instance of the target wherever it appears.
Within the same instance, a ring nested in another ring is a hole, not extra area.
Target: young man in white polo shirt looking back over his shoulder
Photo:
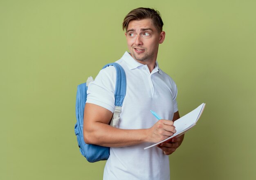
[[[126,73],[126,97],[117,127],[109,124],[115,109],[114,67],[101,70],[88,87],[84,138],[88,144],[110,147],[103,180],[170,180],[169,158],[183,137],[144,150],[172,136],[180,118],[175,82],[159,69],[157,52],[165,32],[158,11],[137,8],[124,18],[130,53],[117,61]],[[150,113],[156,111],[162,120]],[[173,121],[171,121],[173,120]]]

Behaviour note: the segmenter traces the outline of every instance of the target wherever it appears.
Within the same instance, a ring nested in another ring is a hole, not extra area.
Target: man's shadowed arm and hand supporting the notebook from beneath
[[[179,114],[179,111],[177,111],[173,115],[173,122],[179,118],[180,118],[180,114]],[[183,139],[184,139],[184,134],[181,136],[176,136],[175,138],[172,138],[171,142],[162,142],[161,144],[158,144],[157,147],[162,149],[164,151],[164,154],[170,155],[174,151],[176,151],[176,149],[182,143]]]

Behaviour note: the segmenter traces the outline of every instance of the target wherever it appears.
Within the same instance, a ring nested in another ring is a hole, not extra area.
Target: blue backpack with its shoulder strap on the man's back
[[[102,69],[114,66],[117,71],[116,87],[115,87],[115,111],[110,125],[113,127],[117,126],[119,121],[119,114],[121,113],[121,107],[123,105],[124,97],[126,95],[126,75],[124,69],[117,63],[110,63],[105,65]],[[90,78],[88,78],[90,79]],[[93,79],[92,79],[93,81]],[[76,124],[75,134],[80,148],[81,154],[89,162],[97,162],[100,160],[107,160],[110,154],[109,147],[102,147],[94,144],[86,144],[83,139],[83,113],[85,108],[85,102],[87,98],[88,84],[86,82],[77,86],[76,93]]]

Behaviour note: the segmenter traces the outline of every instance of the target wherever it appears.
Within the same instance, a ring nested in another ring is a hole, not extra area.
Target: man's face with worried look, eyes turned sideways
[[[125,35],[131,56],[142,64],[156,60],[158,46],[165,38],[165,32],[159,33],[150,19],[132,20]]]

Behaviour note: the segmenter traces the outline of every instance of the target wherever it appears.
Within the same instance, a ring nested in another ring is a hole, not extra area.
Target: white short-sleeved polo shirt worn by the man
[[[126,96],[117,128],[146,129],[157,122],[150,113],[172,120],[177,109],[177,87],[173,79],[158,67],[150,73],[147,65],[125,52],[117,61],[126,73]],[[115,109],[115,67],[102,69],[89,84],[87,102],[110,111]],[[169,158],[157,147],[144,150],[153,143],[110,148],[103,180],[170,180]]]

